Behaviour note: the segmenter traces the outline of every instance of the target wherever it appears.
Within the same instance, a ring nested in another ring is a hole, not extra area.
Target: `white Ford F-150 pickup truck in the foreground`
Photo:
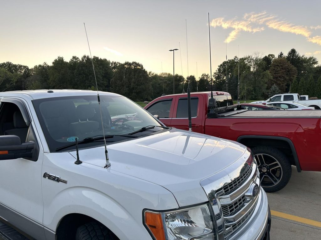
[[[99,95],[100,106],[94,91],[0,93],[0,238],[269,239],[248,148]]]

